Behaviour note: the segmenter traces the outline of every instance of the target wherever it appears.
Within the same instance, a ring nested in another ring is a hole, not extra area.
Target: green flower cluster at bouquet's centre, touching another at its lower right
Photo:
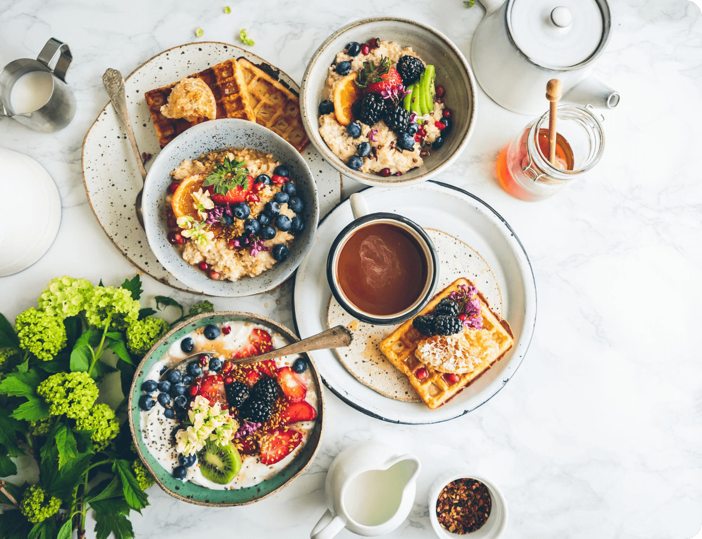
[[[49,414],[84,418],[98,398],[98,386],[87,372],[58,372],[39,384],[37,393],[51,406]]]

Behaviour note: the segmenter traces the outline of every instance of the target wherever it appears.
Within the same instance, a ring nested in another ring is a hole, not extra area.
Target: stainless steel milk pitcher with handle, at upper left
[[[51,69],[49,66],[55,59],[56,65]],[[46,41],[37,60],[20,58],[7,64],[0,71],[2,114],[35,131],[50,133],[65,128],[76,113],[76,98],[65,81],[71,60],[68,45],[51,38]],[[32,79],[20,81],[25,76]]]

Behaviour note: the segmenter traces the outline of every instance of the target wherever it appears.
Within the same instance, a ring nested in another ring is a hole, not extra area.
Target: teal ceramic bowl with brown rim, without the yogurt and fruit
[[[206,489],[204,486],[199,486],[191,482],[183,482],[174,479],[171,475],[171,470],[165,470],[157,460],[151,456],[141,434],[141,416],[138,405],[141,395],[141,385],[146,379],[146,375],[152,369],[154,364],[166,353],[171,344],[183,337],[185,334],[192,332],[194,329],[203,327],[208,324],[216,324],[218,322],[228,322],[230,320],[243,320],[254,324],[262,324],[271,329],[277,330],[285,339],[291,343],[298,341],[298,337],[283,325],[280,325],[270,318],[255,315],[252,313],[240,313],[238,311],[220,311],[218,313],[205,313],[198,315],[186,322],[182,322],[164,336],[154,348],[144,357],[137,367],[137,372],[132,381],[131,390],[129,391],[129,426],[131,428],[134,445],[145,463],[156,479],[157,484],[178,500],[184,502],[195,503],[197,505],[207,505],[209,507],[229,507],[231,505],[246,505],[249,503],[263,500],[273,493],[279,492],[288,486],[293,479],[304,472],[312,463],[314,456],[319,449],[319,442],[322,439],[322,428],[324,427],[324,393],[322,393],[322,381],[319,378],[319,372],[314,365],[314,361],[310,354],[301,354],[307,359],[310,365],[312,378],[314,379],[315,390],[317,391],[317,423],[307,439],[307,444],[303,447],[298,456],[289,463],[289,465],[281,470],[278,475],[255,486],[250,486],[246,489],[238,490],[213,490]]]

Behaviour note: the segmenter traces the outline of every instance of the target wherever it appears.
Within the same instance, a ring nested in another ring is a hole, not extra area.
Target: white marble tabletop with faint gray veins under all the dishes
[[[227,2],[231,15],[222,13]],[[154,487],[152,505],[132,517],[138,538],[307,537],[324,512],[331,460],[365,439],[401,446],[423,462],[416,504],[391,537],[433,536],[425,496],[448,466],[480,470],[501,486],[510,510],[508,538],[687,539],[698,533],[702,354],[693,336],[702,322],[702,20],[687,0],[611,0],[611,8],[614,34],[595,74],[622,100],[606,113],[607,148],[590,176],[542,203],[503,193],[494,159],[529,118],[479,91],[470,145],[442,177],[495,207],[534,264],[536,334],[505,390],[468,416],[427,427],[381,423],[327,392],[333,421],[319,456],[279,496],[208,509]],[[13,318],[34,305],[55,275],[119,284],[134,272],[95,221],[81,181],[81,142],[107,102],[100,81],[107,67],[127,74],[165,48],[194,41],[198,26],[202,39],[232,43],[245,27],[256,40],[252,50],[299,81],[319,43],[352,20],[413,18],[441,29],[468,55],[482,14],[480,6],[466,9],[458,0],[2,1],[0,64],[36,57],[48,37],[67,41],[78,112],[54,135],[0,119],[0,146],[44,165],[63,203],[58,238],[44,259],[0,279],[1,311]],[[31,191],[22,193],[29,206],[21,218],[31,219]],[[150,298],[197,299],[144,280]],[[213,301],[292,325],[289,285]]]

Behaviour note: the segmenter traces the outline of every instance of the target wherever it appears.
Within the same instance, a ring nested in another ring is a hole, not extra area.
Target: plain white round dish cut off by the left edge
[[[18,178],[22,181],[18,184]],[[21,193],[32,193],[32,219],[22,217]],[[32,266],[51,247],[61,224],[61,198],[56,184],[29,156],[0,148],[0,277]]]

